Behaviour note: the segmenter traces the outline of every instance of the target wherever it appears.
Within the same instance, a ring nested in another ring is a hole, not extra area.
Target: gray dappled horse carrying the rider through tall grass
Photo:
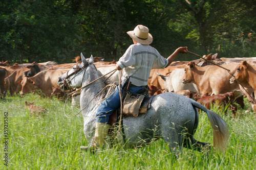
[[[70,88],[83,87],[101,76],[93,64],[93,57],[86,60],[81,54],[82,63],[74,66],[59,77],[58,85]],[[64,81],[65,80],[65,81]],[[106,86],[101,79],[81,89],[80,107],[83,116],[83,132],[88,141],[92,141],[95,131],[98,105],[90,101]],[[151,108],[138,117],[123,117],[123,137],[128,147],[136,147],[150,142],[153,138],[163,138],[172,153],[182,151],[183,147],[196,148],[209,143],[197,141],[196,132],[199,113],[205,111],[214,129],[214,147],[222,150],[228,140],[228,128],[224,120],[215,112],[183,95],[166,92],[154,97]]]

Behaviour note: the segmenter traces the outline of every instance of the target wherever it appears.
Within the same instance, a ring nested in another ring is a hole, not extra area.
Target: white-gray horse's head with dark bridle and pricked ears
[[[87,61],[81,53],[81,59],[82,62],[77,63],[71,70],[59,77],[59,86],[63,86],[65,89],[79,88],[82,86],[84,72],[86,72],[86,68],[90,64],[93,64],[93,56]]]

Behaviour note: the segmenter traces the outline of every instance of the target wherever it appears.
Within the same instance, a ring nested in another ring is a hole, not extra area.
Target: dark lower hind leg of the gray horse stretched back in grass
[[[198,141],[194,138],[194,136],[191,135],[184,139],[183,146],[185,148],[197,150],[199,152],[201,152],[205,147],[208,147],[210,150],[210,143]]]

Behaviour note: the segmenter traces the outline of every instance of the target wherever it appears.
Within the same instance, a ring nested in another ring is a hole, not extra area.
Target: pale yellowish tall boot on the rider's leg
[[[106,135],[108,135],[109,128],[110,128],[109,124],[96,122],[94,141],[92,145],[89,147],[81,146],[80,149],[93,151],[94,149],[102,147],[102,144],[104,143],[104,138],[106,137]]]

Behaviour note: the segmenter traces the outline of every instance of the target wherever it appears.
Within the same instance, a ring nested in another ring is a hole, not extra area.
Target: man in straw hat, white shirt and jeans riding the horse
[[[162,57],[159,52],[149,44],[153,42],[152,35],[148,28],[142,25],[135,27],[127,34],[133,39],[132,45],[127,48],[124,55],[116,64],[117,70],[123,69],[121,91],[123,93],[125,85],[130,82],[130,93],[137,93],[147,85],[151,69],[165,68],[174,61],[178,53],[187,53],[187,47],[179,47],[167,59]],[[109,98],[105,99],[99,106],[96,113],[96,129],[92,148],[101,147],[104,138],[108,134],[110,116],[120,107],[119,86],[113,91]],[[80,147],[88,149],[89,147]]]

